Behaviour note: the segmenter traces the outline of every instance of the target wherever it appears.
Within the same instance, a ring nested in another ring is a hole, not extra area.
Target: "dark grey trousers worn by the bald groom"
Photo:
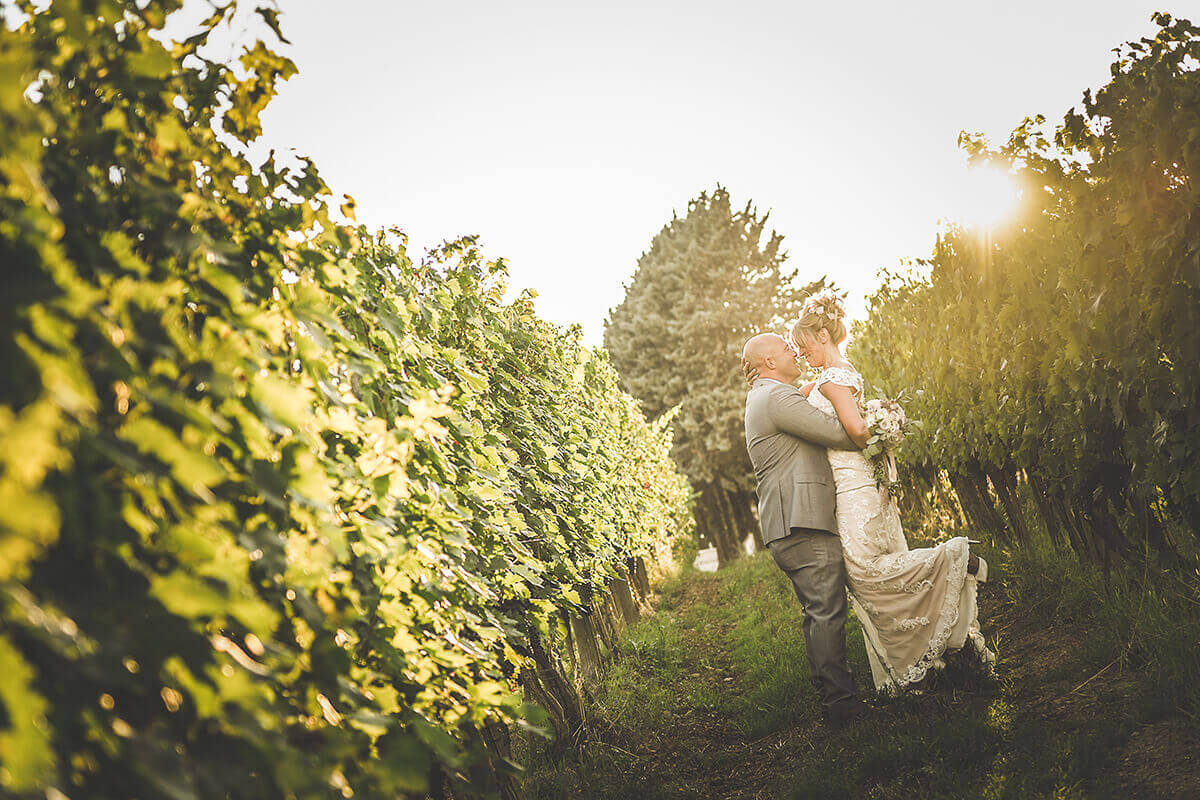
[[[846,666],[846,564],[841,540],[826,530],[793,528],[767,545],[804,606],[809,675],[826,709],[854,700]]]

